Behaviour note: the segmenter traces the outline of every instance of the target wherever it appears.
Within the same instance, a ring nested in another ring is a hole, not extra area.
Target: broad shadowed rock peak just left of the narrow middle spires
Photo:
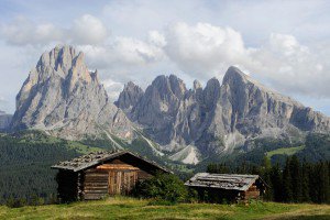
[[[173,122],[186,91],[185,84],[176,76],[158,76],[132,108],[131,119],[152,130],[147,132],[151,138],[166,145],[175,135]]]

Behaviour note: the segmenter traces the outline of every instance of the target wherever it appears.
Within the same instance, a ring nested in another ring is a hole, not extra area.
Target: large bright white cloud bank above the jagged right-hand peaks
[[[329,53],[302,45],[289,34],[272,33],[255,47],[245,46],[242,34],[210,23],[177,22],[147,37],[116,36],[107,44],[82,45],[87,61],[101,68],[103,78],[121,84],[146,84],[160,74],[175,73],[186,80],[222,78],[235,65],[287,95],[329,97]],[[119,87],[117,87],[119,88]]]

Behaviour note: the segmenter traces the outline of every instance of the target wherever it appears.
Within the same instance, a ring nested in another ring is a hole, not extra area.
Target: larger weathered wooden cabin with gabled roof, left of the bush
[[[128,195],[138,180],[170,173],[128,151],[94,152],[52,166],[58,169],[57,196],[62,202]]]

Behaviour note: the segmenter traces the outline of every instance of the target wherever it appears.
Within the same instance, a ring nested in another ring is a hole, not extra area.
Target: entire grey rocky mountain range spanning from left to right
[[[202,87],[195,80],[190,89],[175,75],[157,76],[145,90],[130,81],[112,103],[84,53],[56,46],[30,72],[10,129],[43,130],[66,140],[130,148],[155,161],[197,164],[270,143],[260,140],[305,143],[308,133],[329,133],[330,119],[237,67],[227,70],[222,82],[211,78]]]

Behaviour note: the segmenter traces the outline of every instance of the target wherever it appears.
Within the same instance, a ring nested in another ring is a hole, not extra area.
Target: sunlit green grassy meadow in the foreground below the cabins
[[[100,201],[38,207],[0,207],[0,219],[330,219],[327,205],[253,202],[243,205],[179,204],[151,206],[148,200],[108,198]]]

